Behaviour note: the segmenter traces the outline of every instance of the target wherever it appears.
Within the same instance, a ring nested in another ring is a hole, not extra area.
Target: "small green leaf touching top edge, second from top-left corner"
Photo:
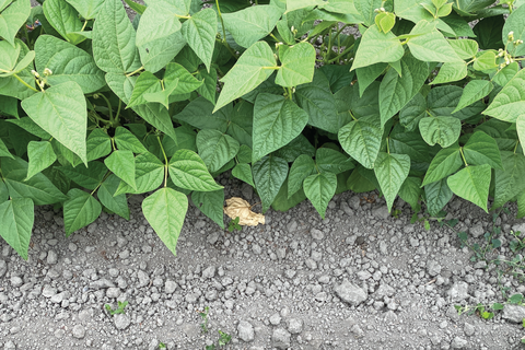
[[[82,31],[82,22],[79,19],[79,12],[66,0],[45,1],[43,9],[47,21],[66,40],[78,45],[85,39],[82,35],[74,33]]]

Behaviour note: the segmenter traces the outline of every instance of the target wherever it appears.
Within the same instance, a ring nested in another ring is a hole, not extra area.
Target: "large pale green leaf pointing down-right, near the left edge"
[[[88,163],[84,93],[75,82],[51,86],[22,101],[22,108],[40,128]]]

